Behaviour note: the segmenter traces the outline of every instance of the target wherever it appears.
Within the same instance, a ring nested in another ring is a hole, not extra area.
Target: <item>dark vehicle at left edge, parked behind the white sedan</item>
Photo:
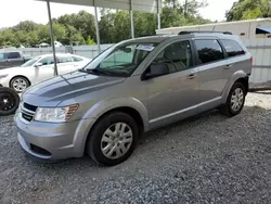
[[[20,66],[30,60],[18,51],[0,51],[0,69]]]

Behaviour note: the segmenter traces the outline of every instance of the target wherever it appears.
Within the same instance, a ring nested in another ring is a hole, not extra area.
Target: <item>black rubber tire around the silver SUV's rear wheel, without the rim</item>
[[[236,89],[240,89],[240,90],[243,91],[243,102],[242,102],[241,106],[237,110],[233,110],[231,99],[232,99],[232,95],[234,94]],[[230,90],[230,93],[229,93],[229,95],[227,98],[227,103],[220,107],[220,112],[225,116],[233,117],[233,116],[241,113],[241,111],[244,107],[245,100],[246,100],[245,86],[242,82],[235,82],[232,86],[232,88]]]

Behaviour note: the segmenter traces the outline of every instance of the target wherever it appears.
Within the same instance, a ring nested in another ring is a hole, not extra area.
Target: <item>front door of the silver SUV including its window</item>
[[[169,44],[153,62],[159,63],[167,64],[168,74],[144,81],[151,128],[177,122],[197,111],[198,71],[193,67],[191,42]]]

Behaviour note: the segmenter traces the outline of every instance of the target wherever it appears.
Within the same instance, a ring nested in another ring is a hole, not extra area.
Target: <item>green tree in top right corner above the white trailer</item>
[[[227,21],[255,20],[270,16],[270,0],[238,0],[225,14]]]

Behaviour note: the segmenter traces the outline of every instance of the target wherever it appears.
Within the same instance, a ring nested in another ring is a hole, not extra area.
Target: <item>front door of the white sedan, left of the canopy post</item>
[[[39,61],[41,66],[35,67],[34,84],[48,80],[54,77],[54,61],[53,56],[47,56]]]

